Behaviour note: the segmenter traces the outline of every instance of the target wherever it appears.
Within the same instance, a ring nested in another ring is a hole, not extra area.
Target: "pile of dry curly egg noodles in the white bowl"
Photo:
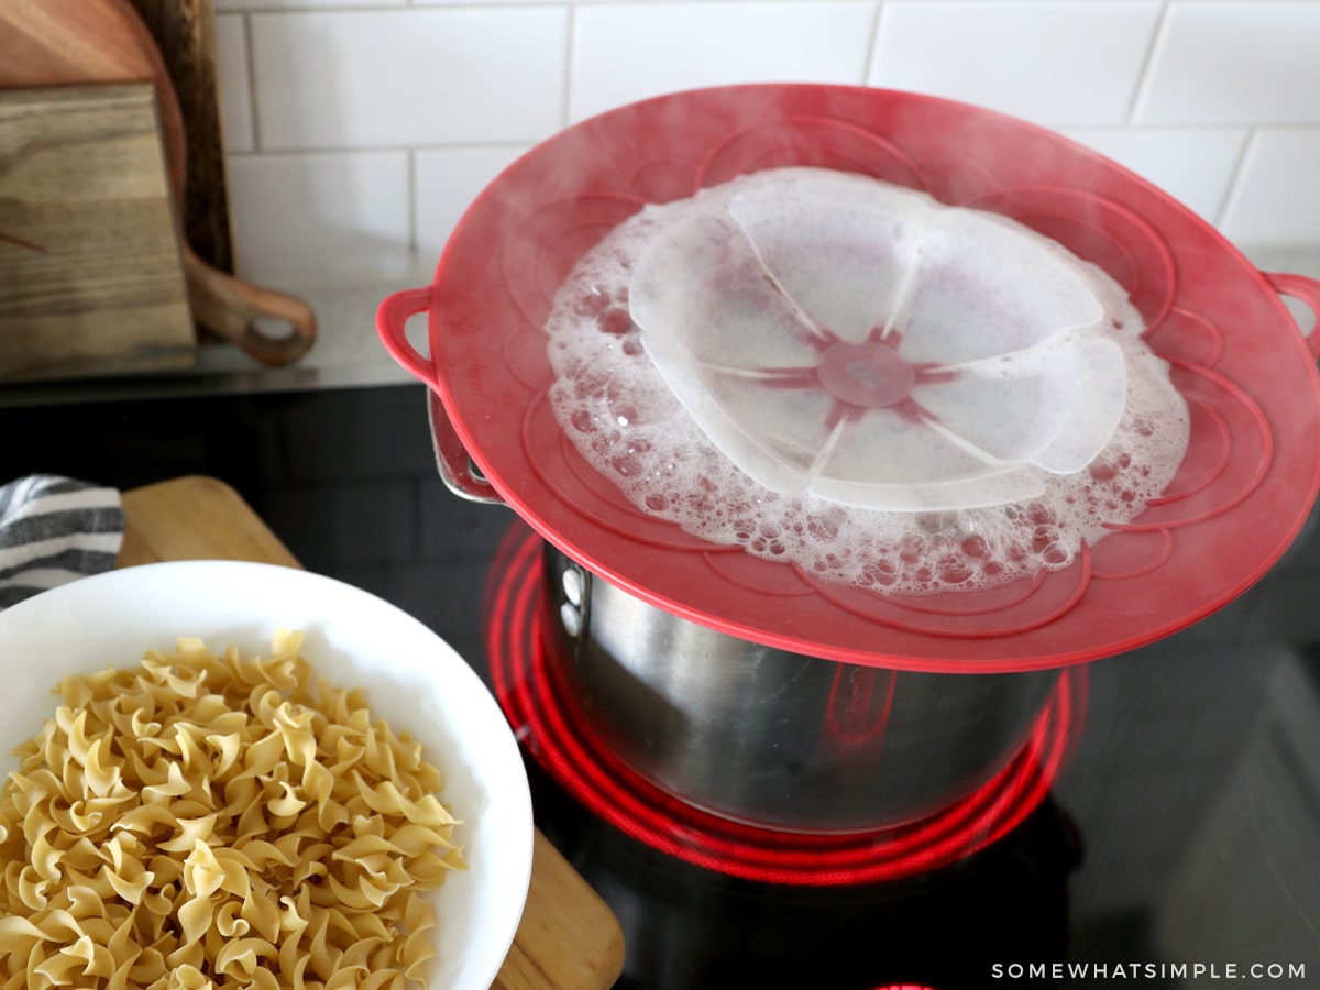
[[[421,982],[465,867],[440,774],[301,642],[65,677],[0,791],[0,986]]]

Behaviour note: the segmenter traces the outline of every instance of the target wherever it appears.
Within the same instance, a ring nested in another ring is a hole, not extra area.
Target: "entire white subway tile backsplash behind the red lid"
[[[869,83],[1320,243],[1320,0],[214,0],[240,269],[412,272],[517,154],[663,92]]]

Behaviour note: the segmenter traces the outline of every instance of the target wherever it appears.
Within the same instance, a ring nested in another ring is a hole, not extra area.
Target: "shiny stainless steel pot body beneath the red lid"
[[[763,828],[879,829],[970,795],[1019,751],[1059,671],[888,671],[681,619],[545,546],[581,715],[677,797]]]

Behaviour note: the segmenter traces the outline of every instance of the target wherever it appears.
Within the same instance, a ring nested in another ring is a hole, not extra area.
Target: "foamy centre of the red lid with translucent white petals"
[[[896,593],[1067,566],[1082,541],[1139,515],[1176,474],[1189,416],[1123,290],[1005,218],[855,176],[843,182],[866,202],[902,203],[902,223],[887,228],[902,243],[890,251],[876,224],[845,216],[862,230],[849,238],[870,238],[865,249],[822,244],[809,224],[799,226],[810,243],[795,246],[776,199],[800,216],[818,181],[841,211],[840,177],[742,177],[647,207],[583,256],[546,325],[552,404],[583,457],[639,510],[688,532]],[[921,219],[936,211],[949,219]],[[684,255],[694,242],[675,232],[702,227],[705,253]],[[964,231],[957,247],[944,243],[949,230]],[[990,231],[986,251],[968,249],[968,230]],[[997,275],[993,251],[1003,244],[1011,264]],[[1048,261],[1032,265],[1034,251]],[[923,256],[929,273],[913,280],[909,267]],[[865,279],[886,257],[898,260],[865,288],[822,294],[821,279],[808,277],[842,268]],[[639,284],[643,306],[632,300]],[[878,318],[858,317],[875,305]],[[795,308],[804,318],[796,326]],[[701,333],[655,333],[673,312],[696,314]],[[950,335],[948,313],[964,327],[994,329]],[[924,379],[898,400],[880,388],[871,408],[865,389],[890,366],[873,360],[884,355],[866,351],[866,338],[884,323],[902,325],[890,345]],[[861,348],[859,399],[846,388],[840,399],[818,371],[807,374],[828,350],[817,334]]]

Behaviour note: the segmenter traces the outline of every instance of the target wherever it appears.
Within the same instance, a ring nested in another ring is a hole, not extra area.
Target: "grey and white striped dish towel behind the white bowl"
[[[0,486],[0,609],[110,570],[123,543],[116,488],[51,474]]]

